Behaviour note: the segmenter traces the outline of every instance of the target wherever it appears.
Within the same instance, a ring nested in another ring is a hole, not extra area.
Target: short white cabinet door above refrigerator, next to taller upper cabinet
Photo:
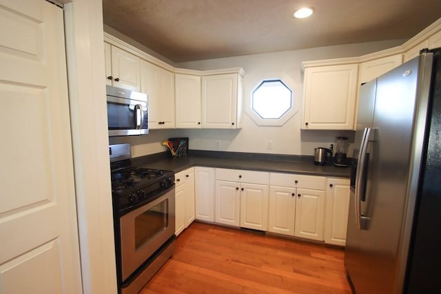
[[[402,64],[402,54],[395,54],[380,59],[360,63],[358,84],[367,83]]]

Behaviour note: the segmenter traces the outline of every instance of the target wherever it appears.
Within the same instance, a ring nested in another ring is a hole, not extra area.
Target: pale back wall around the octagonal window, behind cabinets
[[[329,147],[336,136],[349,136],[345,131],[302,131],[300,130],[302,100],[302,61],[354,57],[377,52],[397,45],[404,40],[336,45],[307,50],[292,50],[268,54],[254,54],[223,59],[178,63],[176,67],[194,70],[216,70],[227,67],[243,67],[245,107],[249,107],[251,92],[264,78],[283,78],[294,91],[300,111],[281,127],[259,127],[247,114],[243,129],[175,129],[154,131],[138,138],[112,138],[112,143],[131,143],[133,156],[142,156],[164,151],[161,140],[170,136],[189,137],[189,149],[254,152],[267,154],[313,155],[314,147]],[[332,101],[329,101],[332,103]],[[323,105],[323,107],[327,107]],[[267,141],[273,142],[273,149],[267,149]],[[216,148],[216,141],[219,147]],[[351,147],[349,148],[351,155]]]

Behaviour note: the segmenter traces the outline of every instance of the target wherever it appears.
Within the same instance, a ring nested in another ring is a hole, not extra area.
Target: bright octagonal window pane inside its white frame
[[[252,92],[252,109],[263,120],[280,119],[292,107],[292,90],[281,79],[263,80]]]

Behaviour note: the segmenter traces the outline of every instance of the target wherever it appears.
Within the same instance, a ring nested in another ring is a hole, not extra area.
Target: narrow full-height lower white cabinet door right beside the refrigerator
[[[327,178],[325,243],[345,246],[349,213],[349,179]]]

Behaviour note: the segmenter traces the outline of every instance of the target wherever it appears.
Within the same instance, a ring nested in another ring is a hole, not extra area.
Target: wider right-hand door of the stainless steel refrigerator
[[[369,139],[367,190],[361,230],[363,267],[351,276],[356,293],[395,293],[398,246],[406,204],[413,117],[416,107],[418,60],[380,76],[372,135]],[[351,275],[351,272],[349,272]],[[362,279],[363,284],[355,281]]]

